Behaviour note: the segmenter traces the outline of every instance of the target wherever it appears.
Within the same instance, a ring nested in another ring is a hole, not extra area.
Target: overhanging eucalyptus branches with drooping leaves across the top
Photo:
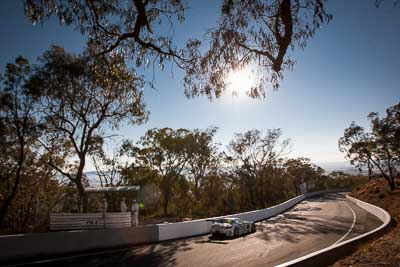
[[[265,97],[269,85],[277,89],[283,70],[292,68],[290,50],[304,48],[315,31],[332,19],[325,0],[225,0],[217,24],[208,29],[204,41],[189,39],[178,47],[174,29],[189,8],[180,0],[24,2],[32,23],[55,15],[61,24],[79,30],[87,37],[92,56],[119,54],[134,62],[138,72],[175,64],[185,71],[188,97],[219,97],[226,89],[227,75],[245,66],[254,66],[260,74],[248,95]]]

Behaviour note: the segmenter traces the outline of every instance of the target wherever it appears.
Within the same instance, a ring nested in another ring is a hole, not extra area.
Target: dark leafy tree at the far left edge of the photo
[[[61,199],[62,188],[40,146],[44,125],[29,94],[29,62],[18,57],[7,65],[0,89],[0,221],[2,232],[47,229],[48,215]]]

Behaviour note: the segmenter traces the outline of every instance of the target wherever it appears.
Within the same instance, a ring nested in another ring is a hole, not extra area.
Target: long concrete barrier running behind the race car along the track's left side
[[[300,195],[270,208],[223,217],[238,217],[243,220],[261,221],[293,207],[305,198],[316,194],[340,191],[343,190],[325,190]],[[0,262],[186,238],[208,234],[210,227],[211,223],[207,219],[202,219],[140,227],[0,236]]]

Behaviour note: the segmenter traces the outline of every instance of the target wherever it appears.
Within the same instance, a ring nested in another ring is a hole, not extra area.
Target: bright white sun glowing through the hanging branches
[[[244,95],[254,85],[254,75],[249,67],[231,71],[227,78],[227,91],[233,95]]]

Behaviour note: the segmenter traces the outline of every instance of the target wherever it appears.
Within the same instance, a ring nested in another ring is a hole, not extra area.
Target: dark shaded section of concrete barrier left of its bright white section
[[[22,258],[65,255],[158,241],[155,225],[0,236],[0,265]]]

